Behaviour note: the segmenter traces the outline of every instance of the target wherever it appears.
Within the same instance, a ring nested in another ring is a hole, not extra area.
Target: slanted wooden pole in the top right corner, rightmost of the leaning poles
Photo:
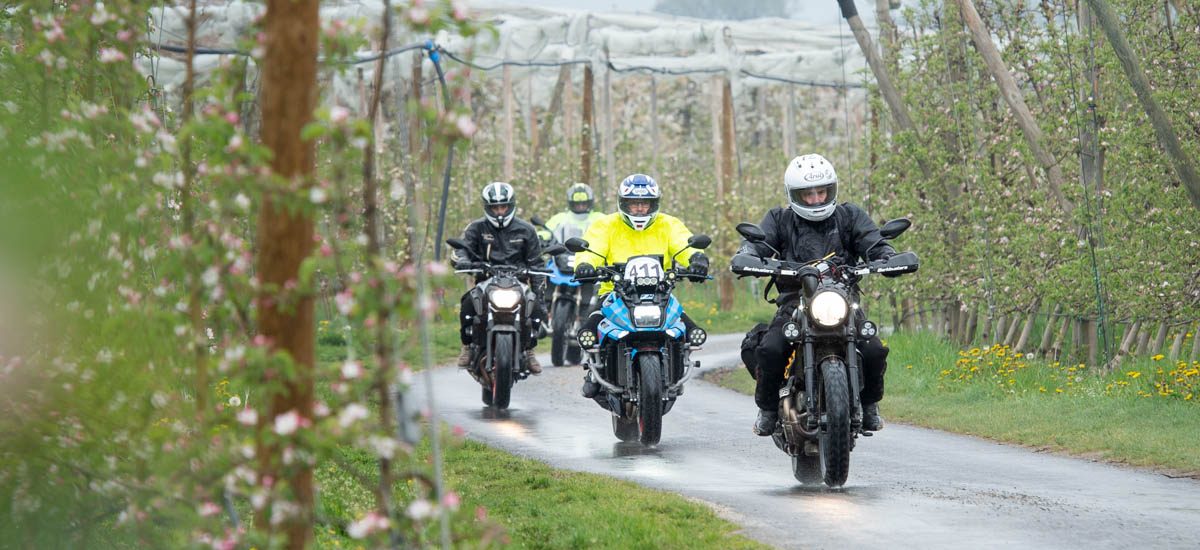
[[[1104,0],[1087,0],[1087,4],[1092,6],[1096,19],[1104,28],[1104,35],[1109,37],[1112,50],[1116,52],[1117,59],[1121,61],[1121,67],[1124,70],[1133,91],[1138,95],[1138,101],[1141,102],[1142,109],[1150,116],[1150,122],[1154,127],[1154,136],[1158,137],[1158,144],[1166,150],[1171,167],[1175,168],[1175,175],[1188,190],[1188,198],[1192,199],[1192,205],[1200,208],[1200,174],[1196,173],[1195,167],[1188,160],[1188,155],[1183,151],[1183,147],[1180,145],[1180,138],[1175,134],[1166,113],[1163,112],[1151,94],[1150,80],[1146,79],[1146,73],[1142,72],[1138,58],[1133,53],[1133,48],[1129,47],[1124,32],[1121,31],[1122,23],[1120,17],[1112,11],[1109,2]]]

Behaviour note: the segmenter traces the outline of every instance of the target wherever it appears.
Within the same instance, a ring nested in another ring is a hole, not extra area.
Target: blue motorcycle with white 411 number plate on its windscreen
[[[688,249],[702,250],[709,244],[707,235],[688,239]],[[575,253],[589,251],[588,243],[580,238],[568,239],[566,249]],[[600,385],[593,399],[612,413],[613,435],[624,442],[658,444],[662,416],[700,369],[691,352],[700,349],[708,334],[700,327],[688,331],[683,306],[672,291],[679,280],[698,282],[709,277],[678,268],[674,258],[682,252],[671,258],[671,269],[664,269],[660,255],[635,256],[624,263],[598,267],[596,276],[590,279],[612,281],[613,291],[601,304],[604,318],[596,330],[583,328],[577,340],[587,352],[583,366]]]

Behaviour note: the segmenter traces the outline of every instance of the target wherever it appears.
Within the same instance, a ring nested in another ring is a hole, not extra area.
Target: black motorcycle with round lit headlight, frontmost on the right
[[[880,229],[883,238],[870,249],[899,237],[911,225],[906,219],[884,223]],[[758,226],[739,223],[737,231],[748,241],[766,245]],[[775,255],[781,256],[779,251]],[[850,476],[850,453],[858,436],[871,435],[863,431],[858,396],[863,359],[858,342],[875,336],[878,328],[865,315],[858,315],[858,281],[870,274],[914,273],[919,262],[914,252],[857,265],[838,265],[832,257],[793,263],[738,253],[731,258],[731,270],[739,276],[770,277],[764,299],[778,280],[800,283],[800,301],[784,323],[792,359],[784,371],[779,422],[772,440],[792,458],[792,474],[798,482],[824,482],[838,488]]]

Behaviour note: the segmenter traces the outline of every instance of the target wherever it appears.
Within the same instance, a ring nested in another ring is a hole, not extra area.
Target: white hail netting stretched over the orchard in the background
[[[395,5],[395,4],[394,4]],[[197,29],[198,47],[214,49],[238,48],[239,38],[247,38],[251,23],[265,8],[260,4],[211,2],[200,6]],[[382,23],[383,2],[347,1],[324,5],[320,8],[322,25],[332,20],[361,24],[367,36],[378,36]],[[690,76],[662,76],[660,78],[692,78],[707,82],[712,74],[732,78],[734,97],[740,97],[748,88],[774,85],[786,86],[763,78],[743,73],[751,72],[790,80],[842,83],[845,74],[850,84],[862,84],[865,62],[848,25],[812,25],[793,19],[750,19],[742,22],[714,22],[656,13],[587,13],[572,10],[554,10],[510,5],[503,2],[473,2],[473,14],[492,23],[498,34],[493,40],[484,37],[437,36],[434,41],[448,52],[473,61],[492,66],[499,61],[559,62],[588,60],[595,71],[598,94],[602,85],[605,48],[608,60],[618,70],[611,74],[614,84],[624,76],[647,74],[646,71],[619,72],[632,67],[652,67],[662,71],[714,70],[714,73]],[[150,10],[152,44],[186,46],[186,6],[157,6]],[[394,25],[398,26],[398,25]],[[408,31],[396,31],[389,40],[389,48],[424,42],[428,36],[416,36]],[[372,38],[373,41],[374,38]],[[362,52],[366,56],[373,52]],[[184,83],[182,54],[162,52],[158,58],[138,60],[145,74],[154,74],[160,88],[166,90],[172,103]],[[226,59],[226,55],[197,55],[196,71],[203,85],[208,74]],[[384,86],[404,90],[406,79],[412,74],[413,55],[404,53],[388,60]],[[845,67],[842,66],[845,64]],[[335,78],[326,102],[336,102],[358,110],[362,102],[361,82],[372,82],[376,64],[364,62],[355,70]],[[443,68],[454,70],[460,64],[443,58]],[[478,74],[480,71],[473,70]],[[422,70],[425,78],[434,72],[428,59]],[[487,78],[500,78],[500,70],[486,72]],[[582,82],[583,71],[571,71],[576,83]],[[512,67],[514,95],[521,110],[532,101],[546,107],[551,101],[556,67]],[[248,77],[253,83],[256,74]],[[533,82],[528,82],[533,78]],[[532,85],[533,92],[528,91]],[[386,90],[385,90],[386,92]],[[532,96],[532,97],[530,97]],[[599,95],[598,95],[599,97]],[[850,102],[859,106],[864,100],[862,90],[851,90]],[[857,109],[856,109],[857,110]]]

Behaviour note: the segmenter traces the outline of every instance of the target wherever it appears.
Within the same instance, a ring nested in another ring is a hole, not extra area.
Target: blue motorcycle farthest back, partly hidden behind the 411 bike
[[[538,216],[530,223],[551,231]],[[553,241],[544,240],[544,245]],[[576,335],[584,315],[595,306],[595,292],[583,292],[582,283],[575,280],[575,255],[560,253],[546,261],[550,279],[546,281],[544,303],[550,312],[550,363],[554,366],[577,365],[582,358]]]

